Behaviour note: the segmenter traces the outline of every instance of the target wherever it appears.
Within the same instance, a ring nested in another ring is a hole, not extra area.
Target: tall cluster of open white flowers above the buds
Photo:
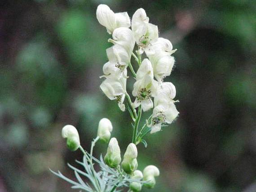
[[[114,13],[105,4],[98,6],[96,15],[99,23],[112,34],[113,39],[108,41],[114,44],[106,50],[109,61],[103,65],[102,77],[106,79],[100,86],[102,91],[110,100],[116,100],[119,108],[124,111],[125,96],[129,100],[126,91],[129,66],[136,78],[132,90],[135,100],[131,108],[141,106],[143,111],[154,108],[149,124],[150,132],[160,131],[161,125],[171,123],[179,114],[174,104],[176,101],[173,100],[176,96],[175,86],[170,82],[163,82],[172,72],[172,53],[176,49],[172,49],[172,43],[168,39],[159,37],[158,27],[149,22],[149,17],[142,8],[133,14],[132,22],[127,12]],[[135,43],[137,56],[133,53]],[[141,62],[143,52],[148,58]],[[131,56],[135,57],[139,65],[136,74],[130,62]],[[132,118],[136,118],[134,114]]]

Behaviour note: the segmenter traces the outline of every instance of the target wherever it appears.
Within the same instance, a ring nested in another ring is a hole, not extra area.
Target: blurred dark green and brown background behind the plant
[[[131,142],[128,112],[99,88],[111,46],[96,19],[101,3],[130,17],[144,8],[178,49],[166,81],[180,117],[138,145],[139,169],[160,170],[151,191],[256,192],[254,0],[1,0],[0,192],[75,191],[49,172],[74,178],[66,163],[82,158],[61,138],[66,124],[86,149],[104,117],[122,153]],[[96,157],[106,147],[97,144]]]

